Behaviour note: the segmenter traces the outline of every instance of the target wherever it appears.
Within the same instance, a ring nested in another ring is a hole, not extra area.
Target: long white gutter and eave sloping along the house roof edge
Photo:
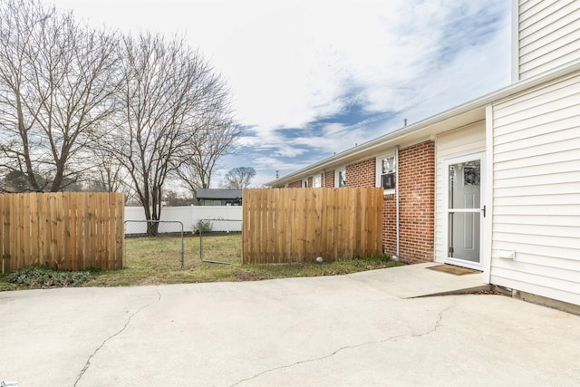
[[[492,104],[493,102],[498,102],[499,100],[510,97],[516,94],[517,92],[523,92],[527,89],[538,86],[542,83],[550,82],[556,80],[557,78],[578,71],[580,71],[580,59],[567,63],[565,65],[558,66],[556,67],[556,69],[552,71],[541,73],[526,80],[510,84],[502,89],[499,89],[496,92],[490,92],[476,100],[466,102],[462,105],[451,108],[448,111],[443,111],[440,114],[431,116],[430,118],[427,118],[425,120],[415,122],[414,124],[405,126],[395,131],[391,131],[390,133],[378,137],[374,140],[362,143],[361,145],[355,148],[345,150],[342,153],[339,153],[328,159],[318,161],[314,164],[309,165],[308,167],[296,170],[295,172],[285,175],[280,179],[275,179],[273,181],[267,182],[266,186],[275,186],[275,185],[279,186],[281,184],[283,185],[285,183],[293,182],[296,179],[301,179],[304,175],[308,175],[311,172],[324,169],[330,164],[341,164],[342,162],[341,160],[351,159],[356,155],[364,155],[365,153],[370,153],[372,152],[372,150],[381,147],[387,142],[401,140],[404,137],[410,135],[411,133],[426,130],[430,126],[440,123],[442,121],[446,121],[461,114],[468,113],[469,111],[485,108],[486,106]]]

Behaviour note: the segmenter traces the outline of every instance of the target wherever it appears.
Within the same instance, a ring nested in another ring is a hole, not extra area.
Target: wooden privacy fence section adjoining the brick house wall
[[[244,189],[244,263],[382,253],[381,188]]]

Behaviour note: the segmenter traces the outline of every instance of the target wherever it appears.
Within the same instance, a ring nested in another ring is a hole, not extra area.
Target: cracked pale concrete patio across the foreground
[[[247,283],[0,293],[19,386],[580,384],[580,316],[427,265]]]

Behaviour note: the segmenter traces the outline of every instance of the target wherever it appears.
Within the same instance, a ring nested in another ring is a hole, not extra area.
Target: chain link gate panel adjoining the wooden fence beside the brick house
[[[242,221],[200,219],[194,225],[199,236],[199,259],[212,264],[242,263]]]

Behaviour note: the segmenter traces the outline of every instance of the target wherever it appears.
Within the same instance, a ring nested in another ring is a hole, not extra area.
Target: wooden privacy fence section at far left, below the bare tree
[[[121,193],[0,195],[0,241],[6,271],[25,266],[65,270],[121,268]]]

